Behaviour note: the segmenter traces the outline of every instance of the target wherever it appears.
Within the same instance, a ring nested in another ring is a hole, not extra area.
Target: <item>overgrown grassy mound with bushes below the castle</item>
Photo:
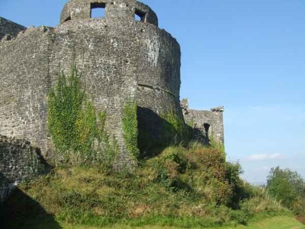
[[[227,162],[222,150],[198,144],[169,147],[121,174],[107,166],[57,166],[12,193],[0,211],[1,225],[196,228],[291,218],[264,189],[243,182],[240,173],[239,164]]]

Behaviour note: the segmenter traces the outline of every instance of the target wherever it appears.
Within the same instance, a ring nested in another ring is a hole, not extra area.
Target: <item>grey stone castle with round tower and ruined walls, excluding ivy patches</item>
[[[92,18],[96,8],[104,9],[105,17]],[[69,75],[73,64],[97,110],[107,110],[105,129],[119,146],[117,167],[134,163],[121,120],[131,99],[137,104],[139,135],[154,144],[164,138],[162,114],[169,112],[192,123],[199,141],[213,136],[224,144],[222,107],[196,111],[187,100],[180,105],[180,46],[158,27],[157,15],[145,4],[72,0],[54,28],[25,28],[0,17],[0,40],[0,134],[30,141],[46,160],[54,158],[48,92],[58,71]]]

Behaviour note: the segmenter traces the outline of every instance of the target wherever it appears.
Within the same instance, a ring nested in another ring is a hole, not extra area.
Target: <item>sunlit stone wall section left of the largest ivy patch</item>
[[[47,95],[51,32],[28,28],[16,39],[0,42],[0,133],[30,140],[47,157]]]

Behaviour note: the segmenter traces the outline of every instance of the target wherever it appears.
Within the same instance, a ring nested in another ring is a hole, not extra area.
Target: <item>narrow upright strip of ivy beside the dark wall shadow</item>
[[[127,150],[134,159],[139,156],[138,149],[138,119],[136,102],[127,102],[124,106],[123,116],[124,140]]]

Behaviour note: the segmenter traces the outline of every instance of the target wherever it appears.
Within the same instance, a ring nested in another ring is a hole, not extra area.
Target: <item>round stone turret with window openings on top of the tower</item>
[[[105,9],[106,18],[130,18],[137,15],[140,20],[158,26],[156,13],[135,0],[72,0],[60,15],[60,24],[70,20],[92,18],[93,9]]]

